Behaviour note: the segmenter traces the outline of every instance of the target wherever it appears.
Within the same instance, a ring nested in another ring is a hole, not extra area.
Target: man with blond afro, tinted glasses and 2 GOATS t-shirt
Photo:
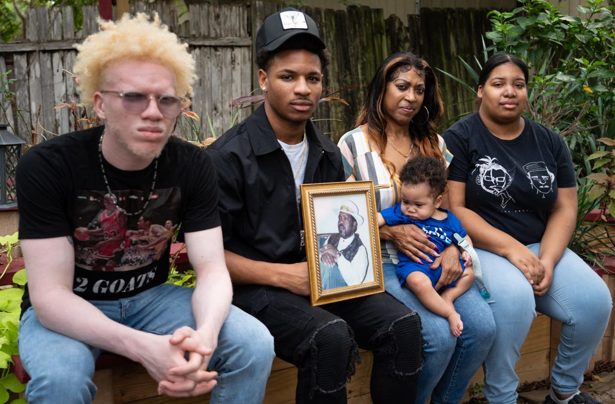
[[[194,60],[157,17],[100,25],[77,46],[74,70],[81,101],[105,126],[47,140],[17,169],[26,398],[92,402],[94,364],[114,352],[145,366],[160,394],[213,389],[215,403],[261,403],[272,337],[231,305],[212,161],[170,137]],[[125,248],[140,217],[181,222],[196,288],[165,283],[170,233],[161,257]],[[101,266],[109,240],[121,248]]]

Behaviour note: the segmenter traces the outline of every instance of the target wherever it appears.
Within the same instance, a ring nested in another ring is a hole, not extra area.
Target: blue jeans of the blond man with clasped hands
[[[192,290],[164,284],[137,296],[90,303],[118,323],[164,335],[181,326],[195,328]],[[26,389],[29,403],[92,402],[94,363],[101,349],[50,331],[30,307],[20,323],[19,350],[32,378]],[[265,326],[231,306],[209,362],[219,374],[210,403],[262,403],[273,358],[273,338]]]

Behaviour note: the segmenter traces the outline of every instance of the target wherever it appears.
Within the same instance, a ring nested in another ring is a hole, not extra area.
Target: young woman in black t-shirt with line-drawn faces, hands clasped
[[[574,169],[560,135],[522,116],[528,69],[498,54],[479,78],[477,113],[443,137],[453,153],[451,211],[474,240],[490,291],[496,339],[485,360],[490,403],[514,404],[515,363],[536,310],[563,323],[547,404],[579,394],[611,313],[605,283],[566,249],[576,220]]]

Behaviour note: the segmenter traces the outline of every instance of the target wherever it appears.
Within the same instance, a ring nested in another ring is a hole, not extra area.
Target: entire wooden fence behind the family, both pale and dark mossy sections
[[[261,1],[241,6],[192,4],[188,20],[183,17],[185,21],[180,23],[178,10],[169,4],[172,3],[135,2],[130,12],[157,12],[181,41],[188,42],[199,77],[194,86],[192,110],[202,118],[197,123],[202,135],[217,137],[249,113],[231,108],[230,103],[258,88],[253,33],[264,18],[282,5]],[[16,111],[11,110],[9,122],[26,142],[30,142],[36,122],[39,125],[34,129],[46,137],[74,128],[68,108],[54,109],[54,106],[72,100],[79,102],[74,79],[63,69],[73,68],[74,44],[98,30],[97,7],[86,6],[82,10],[83,28],[74,31],[70,7],[30,9],[25,38],[0,44],[0,71],[13,70],[10,78],[17,81],[10,89],[17,94],[17,108],[25,118],[16,119]],[[432,67],[467,79],[457,56],[470,60],[480,54],[480,34],[488,28],[487,10],[421,9],[419,16],[407,15],[404,22],[395,15],[385,19],[382,9],[364,6],[350,6],[346,10],[303,7],[303,10],[314,18],[331,52],[324,81],[330,91],[357,84],[365,86],[379,63],[397,51],[415,52]],[[452,81],[443,79],[440,73],[438,76],[447,117],[472,108],[468,102],[459,104],[468,99],[468,94],[460,94]],[[349,106],[321,103],[315,118],[319,119],[317,124],[323,132],[337,140],[352,129],[363,95],[364,87],[355,87],[339,94]]]

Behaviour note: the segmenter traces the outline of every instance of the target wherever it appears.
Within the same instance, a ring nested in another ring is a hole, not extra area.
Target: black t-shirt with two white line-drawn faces
[[[523,132],[502,140],[477,113],[442,137],[453,154],[448,179],[466,183],[466,207],[523,244],[538,243],[558,188],[576,187],[561,136],[528,118]]]

